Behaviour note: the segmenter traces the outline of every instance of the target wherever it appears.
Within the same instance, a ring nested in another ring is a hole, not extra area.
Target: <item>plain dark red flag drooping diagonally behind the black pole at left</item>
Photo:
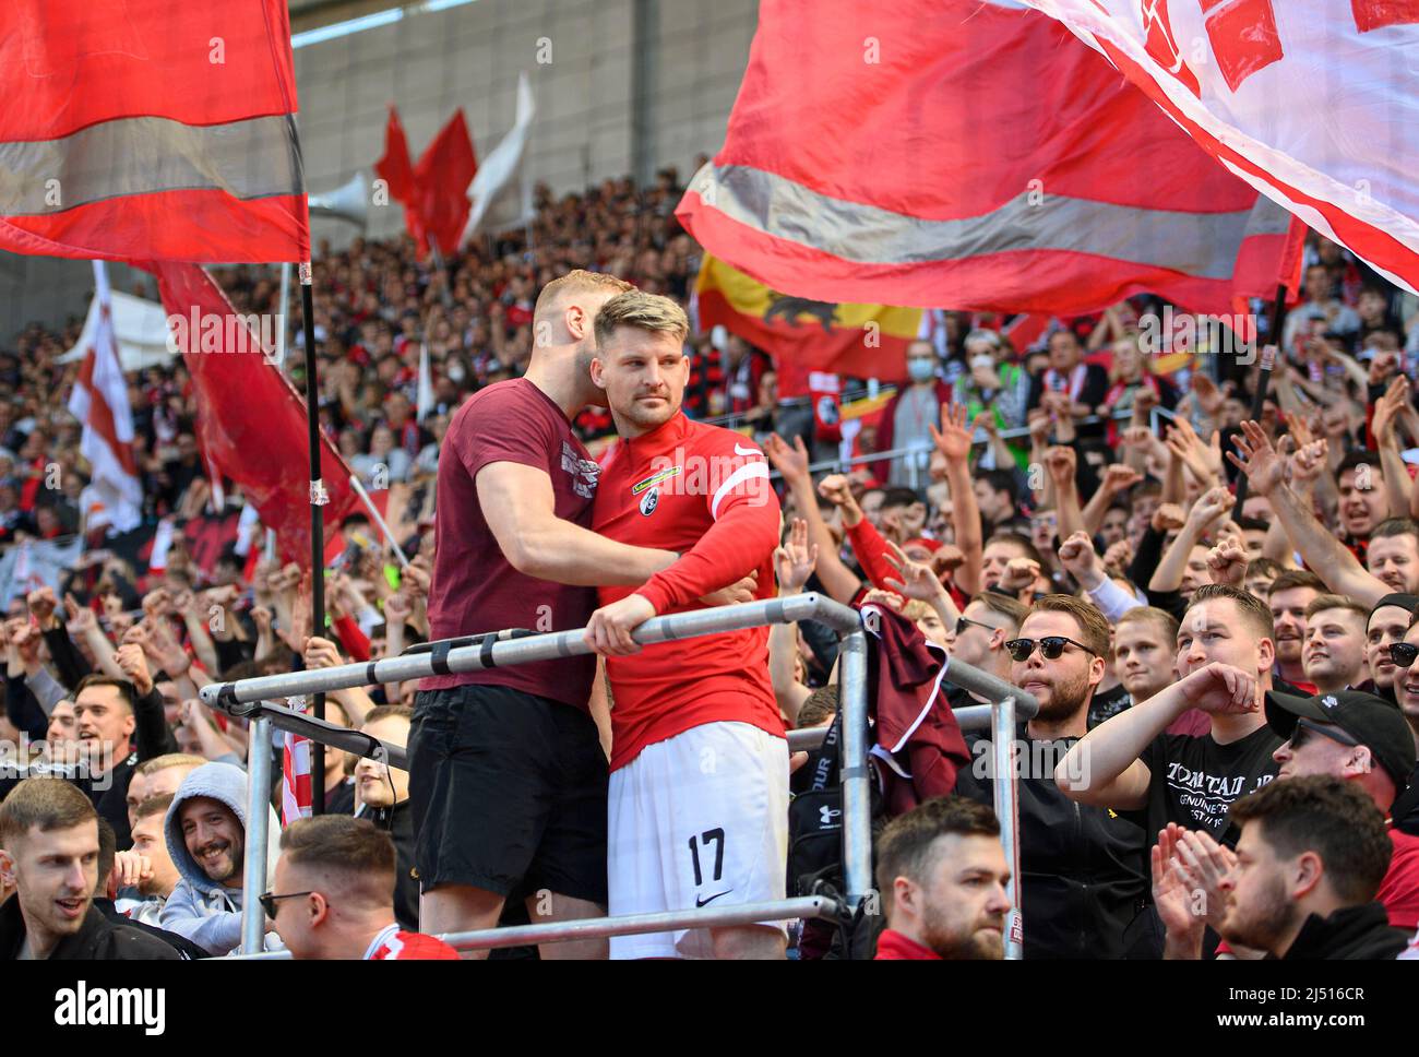
[[[241,316],[196,264],[153,262],[173,343],[197,392],[203,451],[241,487],[275,529],[282,560],[309,566],[311,465],[305,402],[271,363],[274,319]],[[263,333],[251,326],[260,323]],[[349,467],[321,436],[321,478],[329,495],[325,542],[359,502]]]

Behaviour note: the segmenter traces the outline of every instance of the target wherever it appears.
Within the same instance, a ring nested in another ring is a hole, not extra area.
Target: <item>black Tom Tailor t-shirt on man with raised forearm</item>
[[[1145,809],[1148,831],[1156,834],[1175,821],[1225,840],[1232,802],[1276,777],[1279,765],[1271,753],[1280,743],[1264,725],[1229,745],[1219,745],[1210,734],[1159,735],[1141,756],[1152,775]]]

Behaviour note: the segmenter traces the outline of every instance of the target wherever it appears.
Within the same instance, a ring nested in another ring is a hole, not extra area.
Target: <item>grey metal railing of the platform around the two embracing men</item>
[[[802,620],[816,620],[837,631],[840,638],[839,687],[843,715],[843,877],[846,907],[822,895],[790,898],[776,902],[744,907],[702,908],[695,911],[670,911],[664,914],[626,915],[617,918],[587,918],[582,921],[549,922],[515,928],[478,929],[446,935],[443,939],[460,951],[490,949],[495,946],[521,946],[524,943],[549,943],[575,939],[631,935],[639,932],[664,932],[681,928],[710,928],[763,921],[785,921],[795,918],[833,918],[841,911],[851,911],[873,891],[873,847],[871,847],[871,770],[868,768],[868,715],[867,715],[867,634],[857,610],[823,597],[822,594],[796,594],[783,599],[748,602],[738,606],[674,613],[654,617],[641,624],[634,640],[641,646],[691,638],[705,634],[736,631],[763,624],[789,624]],[[257,895],[265,884],[267,840],[270,837],[270,812],[267,792],[271,785],[271,738],[272,728],[292,731],[315,742],[336,745],[360,756],[389,762],[392,766],[407,768],[406,755],[400,746],[387,745],[369,735],[348,731],[332,724],[314,719],[291,708],[274,704],[288,697],[331,692],[353,687],[382,682],[403,682],[437,673],[477,671],[488,667],[507,667],[532,661],[576,657],[590,653],[583,637],[585,629],[556,631],[549,634],[490,633],[471,640],[446,640],[426,644],[414,653],[400,654],[382,661],[345,664],[332,668],[264,675],[234,682],[214,682],[203,687],[201,699],[209,707],[233,716],[251,719],[248,758],[248,809],[247,809],[247,857],[243,873],[243,929],[241,956],[281,958],[288,952],[261,953],[265,918]],[[468,644],[461,644],[468,643]],[[996,768],[993,775],[995,809],[1000,817],[1000,839],[1006,858],[1012,864],[1012,877],[1019,875],[1019,807],[1010,746],[1015,738],[1015,724],[1019,718],[1034,715],[1037,704],[1033,697],[989,673],[969,664],[946,658],[945,681],[962,687],[990,705],[958,709],[956,715],[965,729],[992,728]],[[790,748],[812,748],[820,743],[824,731],[796,731],[790,735]],[[1002,763],[1002,760],[1005,760]],[[1019,908],[1016,882],[1010,882],[1010,901]],[[1012,928],[1006,935],[1006,956],[1019,958],[1019,911],[1015,911]]]

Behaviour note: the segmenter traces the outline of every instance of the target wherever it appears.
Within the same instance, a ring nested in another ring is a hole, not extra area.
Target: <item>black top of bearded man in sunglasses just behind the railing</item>
[[[1025,958],[1158,958],[1161,942],[1149,904],[1148,841],[1142,826],[1105,807],[1070,800],[1054,785],[1054,762],[1077,738],[1040,753],[1023,724],[1016,739],[1030,745],[1020,796],[1020,915]],[[972,765],[956,776],[956,793],[992,803],[989,751],[968,738]],[[983,758],[982,758],[983,753]],[[1046,760],[1036,769],[1036,760]],[[1127,935],[1125,935],[1127,934]]]

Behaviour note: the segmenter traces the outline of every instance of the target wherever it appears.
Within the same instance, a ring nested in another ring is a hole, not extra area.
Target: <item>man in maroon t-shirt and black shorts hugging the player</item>
[[[604,399],[589,375],[593,321],[627,289],[582,270],[546,284],[526,373],[478,390],[454,414],[438,460],[430,638],[582,627],[596,585],[640,585],[675,560],[590,531],[600,467],[572,431],[572,417]],[[604,914],[595,674],[587,655],[420,682],[409,776],[430,932],[492,928],[508,900],[542,921]],[[604,958],[606,941],[549,943],[542,956]]]

